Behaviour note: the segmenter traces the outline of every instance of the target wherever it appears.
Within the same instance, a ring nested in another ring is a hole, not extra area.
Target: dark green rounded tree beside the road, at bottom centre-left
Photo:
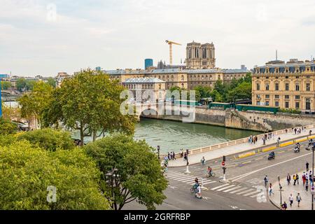
[[[118,134],[87,144],[85,151],[97,161],[102,172],[101,187],[113,209],[120,210],[134,200],[155,209],[155,204],[165,200],[167,180],[157,155],[145,141]],[[106,175],[113,171],[115,177]]]

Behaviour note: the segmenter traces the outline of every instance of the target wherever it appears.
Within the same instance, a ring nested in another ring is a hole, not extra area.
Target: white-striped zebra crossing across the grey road
[[[179,181],[181,183],[188,183],[190,185],[195,183],[195,178],[196,178],[195,176],[183,174],[181,172],[175,172],[175,171],[167,172],[165,174],[165,177],[172,181]],[[218,181],[209,180],[209,179],[206,179],[205,181],[202,181],[202,182],[203,182],[203,186],[213,184],[212,185],[213,188],[209,188],[209,186],[207,186],[209,190],[235,194],[235,195],[241,195],[244,197],[255,198],[255,197],[260,197],[262,193],[265,193],[258,190],[257,188],[239,186],[235,183],[234,184],[230,184],[230,183],[221,184]],[[217,184],[220,184],[220,185],[216,186]]]

